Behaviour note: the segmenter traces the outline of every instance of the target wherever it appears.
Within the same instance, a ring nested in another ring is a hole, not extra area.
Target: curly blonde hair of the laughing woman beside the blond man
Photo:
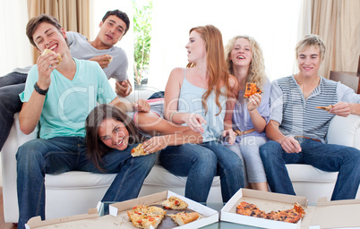
[[[233,62],[231,61],[230,53],[231,50],[233,50],[236,39],[238,38],[245,38],[249,40],[253,53],[252,62],[250,63],[246,82],[254,82],[260,89],[263,89],[263,86],[267,81],[264,58],[262,55],[261,47],[254,38],[250,36],[236,36],[234,38],[231,38],[227,42],[227,46],[225,47],[225,55],[227,56],[227,70],[228,72],[230,72],[230,74],[234,75]]]

